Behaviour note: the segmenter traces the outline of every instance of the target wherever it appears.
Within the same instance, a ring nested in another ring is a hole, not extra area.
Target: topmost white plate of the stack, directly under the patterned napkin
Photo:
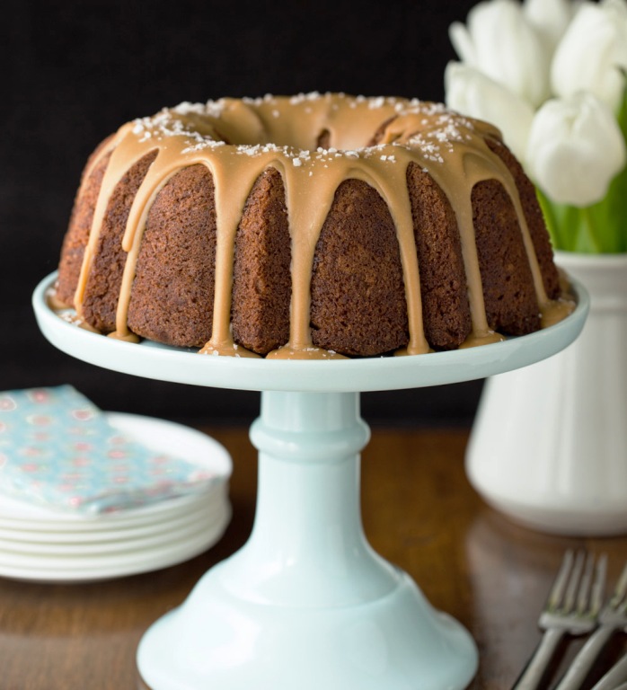
[[[207,490],[161,500],[137,509],[106,515],[85,515],[34,506],[8,497],[0,498],[0,528],[32,529],[35,531],[87,531],[125,529],[130,526],[155,524],[185,514],[208,500],[213,491],[228,481],[233,464],[225,447],[201,431],[172,421],[156,420],[121,412],[108,412],[108,420],[116,429],[136,438],[159,452],[176,455],[209,469],[216,482]]]

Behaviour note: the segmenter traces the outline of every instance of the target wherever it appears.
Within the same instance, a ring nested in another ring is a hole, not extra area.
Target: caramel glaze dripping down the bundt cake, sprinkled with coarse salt
[[[411,163],[419,164],[444,192],[460,228],[472,314],[472,334],[464,346],[502,340],[490,331],[487,322],[474,241],[471,193],[480,181],[499,181],[512,199],[543,325],[555,323],[570,312],[572,305],[547,297],[517,186],[507,166],[490,151],[486,137],[499,137],[499,132],[486,123],[446,111],[441,104],[341,93],[181,103],[152,118],[129,122],[102,147],[84,175],[87,179],[102,158],[110,155],[75,293],[78,318],[82,318],[85,286],[108,200],[128,169],[155,152],[133,201],[123,237],[122,246],[128,253],[116,330],[110,333],[114,338],[137,341],[128,330],[127,314],[146,217],[163,185],[181,168],[193,164],[207,166],[216,196],[213,331],[202,353],[257,356],[233,341],[231,291],[237,227],[253,183],[268,168],[278,170],[283,179],[292,242],[290,336],[285,346],[269,353],[269,358],[340,357],[315,348],[311,341],[310,282],[315,246],[335,190],[351,178],[365,181],[381,195],[396,226],[410,332],[409,345],[399,354],[428,351],[406,183]],[[322,139],[332,146],[318,146]]]

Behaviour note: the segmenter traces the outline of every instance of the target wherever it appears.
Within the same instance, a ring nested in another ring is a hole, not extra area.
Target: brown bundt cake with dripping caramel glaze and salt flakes
[[[285,358],[419,354],[568,311],[534,187],[439,103],[181,103],[84,170],[56,303],[125,340]]]

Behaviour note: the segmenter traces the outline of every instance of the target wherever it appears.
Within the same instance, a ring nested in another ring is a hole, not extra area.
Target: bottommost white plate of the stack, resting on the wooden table
[[[189,535],[182,541],[162,544],[155,549],[146,549],[129,554],[127,557],[97,559],[13,559],[9,562],[0,559],[0,576],[12,579],[24,579],[44,583],[92,582],[102,579],[118,578],[140,572],[156,571],[207,551],[216,544],[224,534],[231,518],[231,509],[227,507],[221,520],[209,529],[202,529],[198,534]]]

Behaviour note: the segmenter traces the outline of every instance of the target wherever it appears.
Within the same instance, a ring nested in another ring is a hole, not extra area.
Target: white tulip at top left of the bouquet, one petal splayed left
[[[453,46],[466,65],[538,106],[549,96],[550,52],[515,0],[485,0],[454,22]]]

